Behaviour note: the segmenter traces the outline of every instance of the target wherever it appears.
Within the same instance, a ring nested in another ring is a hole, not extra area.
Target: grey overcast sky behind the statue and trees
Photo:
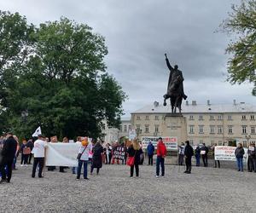
[[[232,3],[240,0],[2,0],[0,9],[19,12],[34,24],[66,16],[102,34],[108,72],[129,95],[124,103],[128,117],[163,102],[169,76],[165,53],[183,72],[189,101],[256,104],[253,85],[225,81],[230,37],[214,32]]]

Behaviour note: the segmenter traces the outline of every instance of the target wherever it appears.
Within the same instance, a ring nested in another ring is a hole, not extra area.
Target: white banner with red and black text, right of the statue
[[[243,160],[247,161],[247,148],[244,149]],[[236,147],[217,146],[214,150],[215,160],[229,160],[236,161],[235,156]]]

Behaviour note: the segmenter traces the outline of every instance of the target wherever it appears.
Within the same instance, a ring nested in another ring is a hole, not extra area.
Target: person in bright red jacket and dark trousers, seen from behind
[[[165,176],[165,158],[167,154],[166,145],[164,144],[162,138],[158,139],[157,150],[156,150],[156,177],[159,177],[160,174],[160,164],[161,164],[161,176]]]

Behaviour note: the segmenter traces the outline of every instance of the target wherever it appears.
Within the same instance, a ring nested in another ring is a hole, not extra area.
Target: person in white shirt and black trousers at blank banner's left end
[[[47,147],[47,142],[44,141],[44,136],[38,135],[38,140],[34,142],[34,147],[32,149],[32,153],[34,154],[32,177],[35,177],[36,175],[38,164],[39,164],[38,177],[39,178],[43,177],[42,171],[44,167],[45,147]]]

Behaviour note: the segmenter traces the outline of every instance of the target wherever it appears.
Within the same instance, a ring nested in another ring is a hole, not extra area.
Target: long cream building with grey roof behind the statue
[[[171,107],[154,102],[131,113],[131,128],[137,130],[139,137],[168,136],[162,135],[162,124],[169,112]],[[256,141],[256,106],[236,101],[233,104],[207,101],[205,105],[186,101],[182,112],[187,120],[187,138],[193,145],[203,142],[227,145],[229,141],[239,141],[246,146],[247,142]]]

